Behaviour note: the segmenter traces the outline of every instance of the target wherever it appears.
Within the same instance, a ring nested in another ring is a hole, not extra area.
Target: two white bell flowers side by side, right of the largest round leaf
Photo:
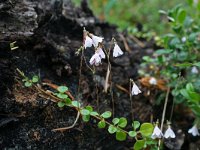
[[[174,131],[171,129],[170,123],[168,122],[168,128],[165,131],[164,134],[164,138],[168,139],[168,138],[175,138],[176,135],[174,133]],[[162,138],[163,137],[163,133],[162,131],[158,128],[158,122],[156,122],[156,126],[154,127],[153,133],[151,135],[152,139],[156,139],[156,138]]]

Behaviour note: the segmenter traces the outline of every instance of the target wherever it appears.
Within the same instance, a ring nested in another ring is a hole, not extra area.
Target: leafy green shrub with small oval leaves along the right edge
[[[194,123],[200,125],[200,3],[194,7],[191,1],[190,7],[194,14],[182,5],[162,11],[170,20],[171,32],[160,39],[163,49],[156,50],[153,57],[143,57],[139,73],[164,79],[175,104],[190,108],[196,116]]]

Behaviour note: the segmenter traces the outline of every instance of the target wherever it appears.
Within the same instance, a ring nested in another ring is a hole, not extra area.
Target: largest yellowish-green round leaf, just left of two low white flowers
[[[142,134],[142,136],[150,136],[153,132],[153,125],[151,123],[143,123],[140,126],[140,133]]]

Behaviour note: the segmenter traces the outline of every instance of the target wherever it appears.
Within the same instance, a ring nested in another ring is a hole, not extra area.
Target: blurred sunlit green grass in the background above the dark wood
[[[73,0],[76,5],[80,0]],[[143,26],[142,32],[153,32],[158,35],[170,29],[168,19],[159,14],[159,10],[168,10],[177,4],[186,7],[190,14],[194,11],[188,4],[191,0],[88,0],[94,14],[102,21],[118,25],[119,29],[128,29],[136,33],[137,26]],[[194,4],[196,5],[196,4]]]

